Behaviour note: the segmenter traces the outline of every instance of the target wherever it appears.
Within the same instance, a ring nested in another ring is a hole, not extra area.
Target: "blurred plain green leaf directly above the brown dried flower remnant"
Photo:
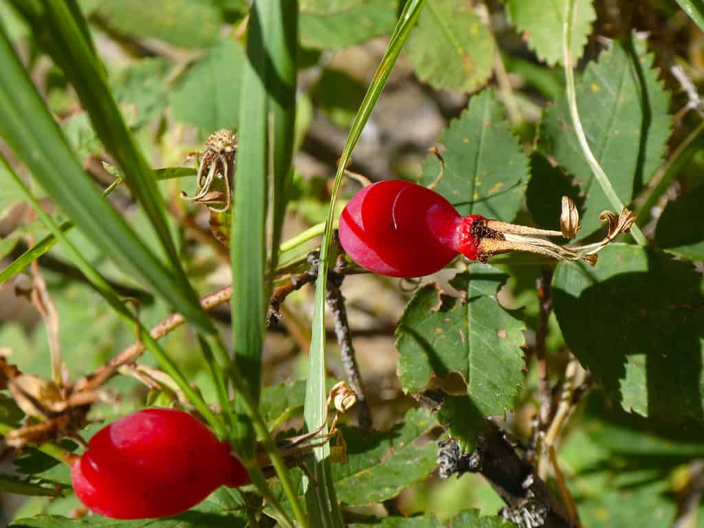
[[[174,117],[199,127],[202,137],[236,130],[244,50],[222,39],[187,70],[170,92]]]

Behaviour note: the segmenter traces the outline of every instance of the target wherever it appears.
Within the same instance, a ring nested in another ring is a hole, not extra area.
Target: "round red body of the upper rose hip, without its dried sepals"
[[[342,211],[339,237],[363,268],[392,277],[422,277],[460,252],[462,217],[435,191],[403,180],[361,189]]]

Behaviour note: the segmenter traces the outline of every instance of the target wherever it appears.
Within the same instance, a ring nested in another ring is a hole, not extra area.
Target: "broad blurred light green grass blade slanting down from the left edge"
[[[0,100],[0,135],[63,212],[123,269],[141,277],[199,329],[214,332],[189,284],[144,245],[84,173],[2,28]]]

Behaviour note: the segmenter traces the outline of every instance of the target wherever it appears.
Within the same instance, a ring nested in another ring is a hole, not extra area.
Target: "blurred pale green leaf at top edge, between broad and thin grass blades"
[[[394,23],[394,0],[308,0],[301,1],[298,32],[307,48],[341,49],[391,33]]]

